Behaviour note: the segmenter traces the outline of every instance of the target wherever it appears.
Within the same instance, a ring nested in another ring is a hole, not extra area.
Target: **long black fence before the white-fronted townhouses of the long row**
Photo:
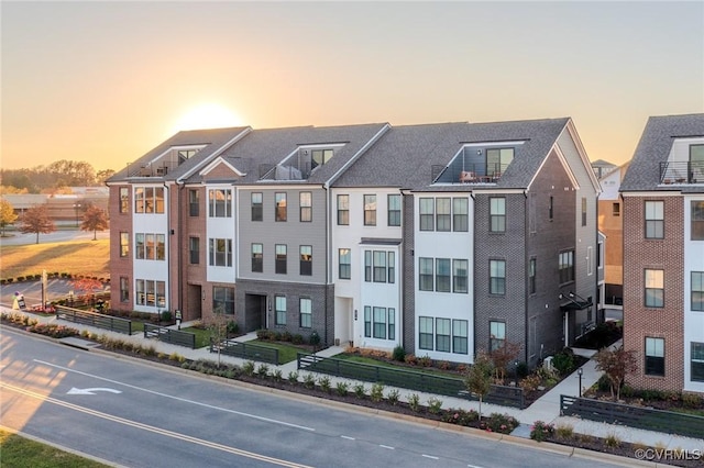
[[[477,400],[466,391],[464,380],[416,370],[394,369],[385,366],[352,363],[345,359],[320,357],[307,353],[298,353],[298,369],[329,374],[367,382],[380,382],[386,386],[418,390],[447,397]],[[504,406],[525,408],[522,389],[517,387],[492,386],[492,390],[483,401]]]

